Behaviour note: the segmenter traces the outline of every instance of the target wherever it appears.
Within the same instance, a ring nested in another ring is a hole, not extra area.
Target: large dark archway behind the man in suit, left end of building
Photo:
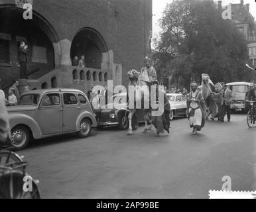
[[[6,65],[0,66],[0,78],[7,85],[19,78],[17,48],[21,40],[29,46],[27,65],[32,79],[38,79],[55,68],[56,52],[53,43],[59,40],[56,32],[34,9],[32,20],[29,21],[23,19],[23,12],[16,5],[0,5],[0,46],[7,50],[1,61]]]

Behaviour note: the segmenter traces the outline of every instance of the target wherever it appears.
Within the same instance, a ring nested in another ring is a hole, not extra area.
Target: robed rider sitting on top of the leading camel
[[[151,66],[151,59],[144,58],[145,67],[141,69],[139,80],[145,81],[147,85],[152,85],[153,81],[157,80],[157,72],[153,66]]]

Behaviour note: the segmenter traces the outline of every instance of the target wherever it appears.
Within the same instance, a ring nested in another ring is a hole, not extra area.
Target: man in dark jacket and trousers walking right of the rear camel
[[[223,89],[220,92],[220,95],[222,97],[221,99],[221,104],[222,104],[222,115],[220,117],[220,121],[224,122],[224,117],[227,114],[227,121],[230,121],[230,116],[231,116],[231,101],[233,98],[233,93],[231,90],[227,88],[227,85],[223,85]]]

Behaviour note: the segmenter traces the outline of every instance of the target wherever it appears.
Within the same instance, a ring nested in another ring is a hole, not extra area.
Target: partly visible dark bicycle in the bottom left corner
[[[0,150],[0,199],[40,199],[36,185],[38,181],[33,180],[26,172],[28,165],[10,147]],[[31,189],[24,187],[26,176],[30,180]]]

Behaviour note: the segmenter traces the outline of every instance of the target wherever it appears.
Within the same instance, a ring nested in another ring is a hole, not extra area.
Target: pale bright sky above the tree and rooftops
[[[218,2],[218,0],[214,0]],[[172,0],[153,0],[153,36],[160,32],[160,26],[158,20],[162,17],[162,12],[167,3],[171,3]],[[256,2],[255,0],[244,0],[244,5],[249,3],[249,11],[256,21]],[[229,3],[237,4],[240,3],[240,0],[222,0],[222,6],[228,5]],[[154,36],[155,37],[155,36]]]

